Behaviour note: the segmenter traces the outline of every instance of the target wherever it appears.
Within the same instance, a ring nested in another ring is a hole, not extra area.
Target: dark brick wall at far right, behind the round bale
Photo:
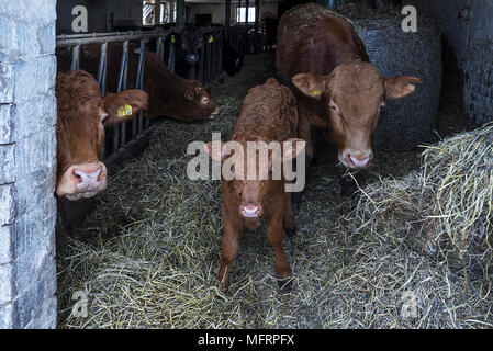
[[[441,19],[442,32],[463,75],[463,103],[470,120],[493,121],[493,1],[410,0]],[[419,26],[419,22],[418,22]]]

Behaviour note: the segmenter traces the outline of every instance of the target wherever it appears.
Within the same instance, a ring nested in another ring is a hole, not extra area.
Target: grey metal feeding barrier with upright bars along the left
[[[175,34],[172,31],[138,31],[138,32],[111,32],[111,33],[91,33],[91,34],[69,34],[57,36],[57,48],[69,48],[71,50],[70,69],[76,70],[80,67],[80,49],[91,44],[101,45],[99,58],[97,81],[104,97],[107,93],[107,71],[108,65],[120,65],[116,92],[125,89],[144,90],[145,73],[145,52],[149,43],[153,43],[155,54],[175,71],[176,47],[173,41],[170,41],[169,47],[165,50],[165,41],[168,36]],[[205,41],[200,53],[200,64],[198,69],[192,69],[190,79],[198,79],[206,83],[219,76],[222,71],[222,50],[223,36],[228,44],[240,54],[249,54],[255,42],[255,30],[253,26],[237,27],[208,27],[204,31]],[[139,43],[137,75],[134,87],[127,87],[128,77],[128,47],[131,42]],[[108,44],[122,43],[123,52],[120,63],[108,61]],[[83,64],[83,63],[82,63]],[[82,67],[83,68],[83,67]],[[149,128],[149,120],[144,120],[141,111],[137,118],[113,126],[107,129],[107,137],[103,145],[101,158],[112,157],[119,154],[128,143],[138,139],[143,133]]]

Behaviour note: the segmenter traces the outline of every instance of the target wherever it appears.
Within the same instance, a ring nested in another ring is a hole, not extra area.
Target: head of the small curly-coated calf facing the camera
[[[290,138],[282,143],[280,152],[267,150],[267,158],[260,157],[259,151],[248,152],[246,143],[239,144],[239,149],[224,147],[222,141],[211,141],[204,146],[209,156],[215,160],[225,162],[231,186],[234,188],[238,205],[238,213],[244,218],[260,218],[274,195],[282,192],[281,169],[272,179],[272,165],[281,166],[282,162],[291,162],[305,147],[303,139]],[[276,162],[277,161],[277,162]],[[227,162],[227,165],[226,165]],[[248,174],[247,165],[256,165],[256,173]],[[262,176],[261,176],[262,174]],[[274,173],[276,174],[276,173]],[[225,174],[223,173],[223,179]]]

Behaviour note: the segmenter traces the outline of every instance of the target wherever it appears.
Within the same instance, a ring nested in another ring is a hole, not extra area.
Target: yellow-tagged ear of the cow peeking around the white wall
[[[141,110],[146,110],[149,95],[138,89],[130,89],[119,93],[108,94],[104,101],[107,121],[104,125],[110,126],[135,117]]]

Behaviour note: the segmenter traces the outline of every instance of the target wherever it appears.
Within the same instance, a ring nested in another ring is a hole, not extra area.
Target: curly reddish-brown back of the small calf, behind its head
[[[248,91],[232,139],[283,141],[295,136],[296,128],[296,102],[292,92],[270,78]]]

